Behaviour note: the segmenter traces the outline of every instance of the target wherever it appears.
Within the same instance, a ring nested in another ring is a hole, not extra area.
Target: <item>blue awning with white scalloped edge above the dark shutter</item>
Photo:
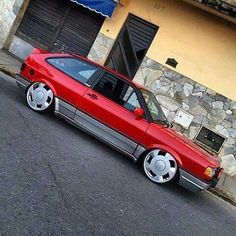
[[[113,11],[117,6],[115,0],[71,0],[91,11],[102,14],[105,17],[111,18]]]

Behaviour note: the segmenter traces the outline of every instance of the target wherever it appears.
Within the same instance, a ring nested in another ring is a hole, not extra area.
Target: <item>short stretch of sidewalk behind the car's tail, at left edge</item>
[[[20,71],[21,64],[14,56],[0,50],[0,71],[14,77]]]

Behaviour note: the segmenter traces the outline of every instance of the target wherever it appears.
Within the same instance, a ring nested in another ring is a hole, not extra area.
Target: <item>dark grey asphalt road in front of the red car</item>
[[[235,235],[236,210],[149,181],[129,158],[30,110],[0,74],[0,235]]]

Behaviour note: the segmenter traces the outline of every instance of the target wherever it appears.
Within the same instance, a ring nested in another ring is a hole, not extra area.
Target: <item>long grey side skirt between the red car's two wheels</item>
[[[84,112],[76,110],[75,107],[59,98],[55,98],[55,114],[62,116],[78,128],[92,134],[125,155],[128,155],[134,161],[137,161],[140,155],[146,150],[124,135],[102,124]]]

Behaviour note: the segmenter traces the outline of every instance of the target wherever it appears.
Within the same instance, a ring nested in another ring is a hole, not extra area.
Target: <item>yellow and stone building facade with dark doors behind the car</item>
[[[233,0],[121,0],[109,19],[70,0],[3,0],[0,46],[80,53],[149,87],[179,132],[223,139],[219,188],[236,196],[235,12]]]

